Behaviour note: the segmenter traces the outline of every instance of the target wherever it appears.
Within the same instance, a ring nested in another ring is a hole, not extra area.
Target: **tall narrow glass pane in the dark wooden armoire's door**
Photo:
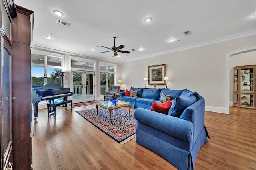
[[[3,61],[2,61],[2,88],[3,88],[3,101],[2,101],[2,113],[3,113],[3,134],[4,134],[4,152],[8,147],[8,143],[11,140],[11,110],[10,110],[10,98],[11,98],[11,55],[5,47],[3,47]]]

